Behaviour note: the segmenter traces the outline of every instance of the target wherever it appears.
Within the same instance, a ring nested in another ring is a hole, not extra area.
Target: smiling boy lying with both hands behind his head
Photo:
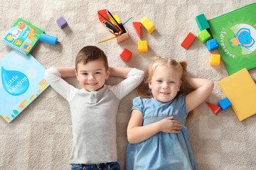
[[[63,78],[77,77],[83,89]],[[105,85],[109,76],[124,78],[115,86]],[[105,53],[95,46],[83,47],[75,67],[46,70],[50,86],[70,105],[73,126],[72,169],[120,169],[117,163],[116,115],[119,101],[134,90],[144,72],[128,67],[108,67]]]

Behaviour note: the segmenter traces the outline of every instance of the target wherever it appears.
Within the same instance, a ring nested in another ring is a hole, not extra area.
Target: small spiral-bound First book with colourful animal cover
[[[2,41],[23,55],[28,55],[39,41],[42,33],[44,33],[43,30],[18,18]]]

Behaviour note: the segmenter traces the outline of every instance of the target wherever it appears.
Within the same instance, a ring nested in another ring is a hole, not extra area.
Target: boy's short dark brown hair
[[[85,46],[78,52],[78,55],[75,58],[75,70],[78,72],[78,63],[82,62],[82,64],[87,64],[87,62],[92,60],[103,60],[106,71],[109,68],[107,56],[100,50],[100,48],[95,46]]]

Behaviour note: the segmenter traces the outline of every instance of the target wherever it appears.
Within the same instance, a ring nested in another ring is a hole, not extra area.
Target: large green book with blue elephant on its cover
[[[228,74],[256,67],[256,3],[208,20]]]

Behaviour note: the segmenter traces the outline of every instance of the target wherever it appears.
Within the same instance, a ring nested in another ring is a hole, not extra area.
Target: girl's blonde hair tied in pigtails
[[[156,67],[158,67],[159,65],[173,67],[180,75],[182,84],[180,87],[180,91],[178,91],[177,96],[186,95],[189,94],[191,91],[195,90],[190,84],[188,84],[188,81],[186,80],[186,67],[188,66],[187,62],[176,62],[176,60],[169,59],[166,57],[154,57],[154,60],[149,64],[149,67],[145,70],[144,80],[137,88],[138,96],[141,96],[142,98],[153,97],[151,89],[149,89],[149,81],[151,81],[154,71],[156,70]],[[191,115],[192,114],[190,114],[189,117],[191,117]]]

